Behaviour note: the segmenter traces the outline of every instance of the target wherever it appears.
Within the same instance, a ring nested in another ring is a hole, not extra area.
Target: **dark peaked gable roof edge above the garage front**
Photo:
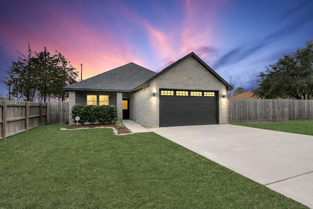
[[[211,69],[207,64],[205,64],[205,62],[203,62],[194,52],[191,52],[190,54],[184,56],[183,58],[179,59],[178,61],[176,61],[175,63],[169,65],[168,67],[164,68],[163,70],[161,70],[159,73],[157,73],[154,77],[150,78],[146,83],[142,84],[141,86],[139,86],[138,88],[136,88],[135,90],[138,90],[140,88],[142,88],[142,86],[146,85],[147,83],[149,83],[150,81],[156,79],[158,76],[160,76],[161,74],[163,74],[164,72],[166,72],[167,70],[170,70],[171,68],[177,66],[179,63],[181,63],[182,61],[184,61],[185,59],[189,58],[189,57],[193,57],[195,58],[206,70],[208,70],[210,73],[212,73],[221,83],[223,83],[226,86],[226,90],[233,90],[234,88],[227,83],[219,74],[217,74],[213,69]]]

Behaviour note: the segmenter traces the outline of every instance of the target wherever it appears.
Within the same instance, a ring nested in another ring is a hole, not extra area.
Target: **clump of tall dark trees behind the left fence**
[[[20,55],[17,62],[12,61],[8,76],[3,77],[12,96],[34,101],[37,93],[44,102],[48,97],[62,101],[68,97],[62,88],[75,83],[78,73],[59,51],[52,55],[44,47],[43,51],[32,52],[28,44],[28,55]]]

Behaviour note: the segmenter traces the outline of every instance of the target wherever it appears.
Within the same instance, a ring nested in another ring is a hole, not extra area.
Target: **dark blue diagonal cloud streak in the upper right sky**
[[[303,2],[305,2],[305,4],[302,4]],[[214,67],[219,68],[224,65],[239,63],[243,59],[246,59],[247,57],[260,51],[261,49],[272,44],[273,42],[279,41],[287,37],[288,35],[295,33],[298,28],[307,24],[310,20],[313,19],[313,6],[311,6],[309,9],[305,9],[305,11],[302,12],[303,9],[308,6],[307,4],[309,1],[303,2],[299,3],[295,7],[295,9],[291,10],[290,12],[290,16],[293,15],[297,17],[290,20],[280,29],[269,33],[260,41],[256,41],[254,44],[251,44],[249,46],[237,46],[236,48],[229,50],[215,63]],[[286,17],[286,15],[283,15],[282,17]],[[279,18],[278,21],[281,21],[281,18]]]

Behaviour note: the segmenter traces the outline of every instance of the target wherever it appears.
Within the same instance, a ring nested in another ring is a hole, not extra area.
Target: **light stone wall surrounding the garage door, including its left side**
[[[131,95],[130,119],[147,127],[159,126],[159,89],[182,89],[219,92],[219,123],[227,123],[226,86],[189,57],[150,82],[150,87]],[[156,97],[153,97],[156,93]]]

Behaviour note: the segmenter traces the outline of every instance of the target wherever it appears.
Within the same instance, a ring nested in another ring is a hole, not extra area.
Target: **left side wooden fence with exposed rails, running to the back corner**
[[[46,103],[0,100],[0,139],[47,123]]]

